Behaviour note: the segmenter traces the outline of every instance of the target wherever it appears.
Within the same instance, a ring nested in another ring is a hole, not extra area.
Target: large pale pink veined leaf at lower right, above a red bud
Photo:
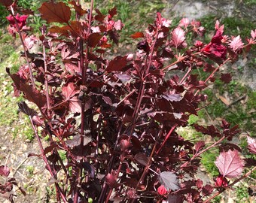
[[[231,178],[242,174],[245,163],[240,159],[237,150],[228,150],[217,157],[215,165],[223,177]]]

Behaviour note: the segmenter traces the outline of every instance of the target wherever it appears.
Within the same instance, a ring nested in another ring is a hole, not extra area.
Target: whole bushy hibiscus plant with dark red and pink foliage
[[[224,35],[217,21],[215,35],[204,44],[206,31],[197,20],[184,18],[173,26],[157,13],[145,32],[130,36],[135,53],[115,56],[111,47],[123,29],[116,8],[105,15],[93,9],[93,0],[90,9],[79,1],[44,2],[39,11],[47,24],[36,37],[26,26],[32,11],[18,8],[17,1],[0,2],[26,59],[17,73],[7,72],[14,95],[27,101],[19,110],[29,116],[41,150],[30,156],[44,160],[56,201],[209,202],[254,171],[255,160],[242,159],[242,149],[230,143],[239,126],[225,120],[219,126],[194,124],[212,137],[211,143],[195,144],[175,129],[203,108],[202,90],[209,83],[217,77],[230,82],[230,73],[220,69],[248,52],[256,30],[242,41]],[[35,44],[41,51],[32,53]],[[195,68],[208,74],[206,80],[193,74]],[[45,136],[47,147],[41,143]],[[196,175],[200,157],[213,147],[220,150],[220,174],[204,183]],[[254,138],[248,137],[248,149],[256,153]],[[243,173],[245,167],[250,172]]]

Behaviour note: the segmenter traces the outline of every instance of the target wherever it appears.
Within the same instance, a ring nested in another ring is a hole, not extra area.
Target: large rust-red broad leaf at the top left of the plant
[[[71,17],[69,6],[63,2],[44,2],[38,10],[42,14],[41,18],[47,23],[69,23]]]

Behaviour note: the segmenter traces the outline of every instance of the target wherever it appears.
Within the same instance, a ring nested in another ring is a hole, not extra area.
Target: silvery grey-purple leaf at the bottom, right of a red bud
[[[180,188],[177,180],[177,176],[169,171],[163,171],[159,176],[160,183],[165,186],[166,189],[175,191]]]

